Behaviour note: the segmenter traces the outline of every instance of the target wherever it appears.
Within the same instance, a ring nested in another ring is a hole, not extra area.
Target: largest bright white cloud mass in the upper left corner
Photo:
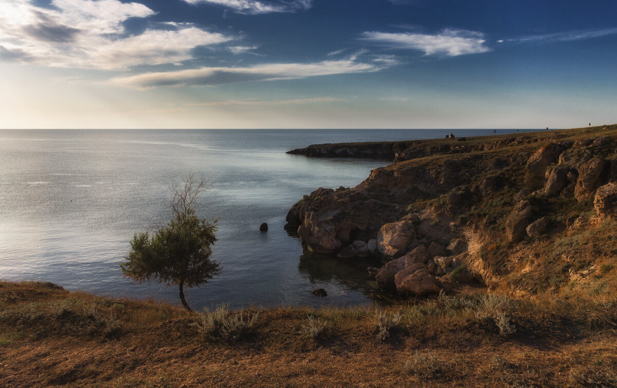
[[[155,12],[136,2],[52,0],[52,8],[31,0],[0,0],[0,58],[66,68],[124,70],[193,59],[195,47],[233,38],[186,23],[167,23],[126,34],[123,23]]]

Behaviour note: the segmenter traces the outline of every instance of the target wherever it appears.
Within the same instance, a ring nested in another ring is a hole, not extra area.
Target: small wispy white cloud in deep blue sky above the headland
[[[423,51],[426,55],[455,57],[464,54],[479,54],[491,49],[484,45],[484,34],[476,31],[445,29],[438,34],[382,33],[366,31],[367,41],[386,44],[397,49]]]

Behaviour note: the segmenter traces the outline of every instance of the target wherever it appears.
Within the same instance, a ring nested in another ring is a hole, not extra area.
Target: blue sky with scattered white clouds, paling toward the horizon
[[[617,123],[615,0],[0,0],[0,128]]]

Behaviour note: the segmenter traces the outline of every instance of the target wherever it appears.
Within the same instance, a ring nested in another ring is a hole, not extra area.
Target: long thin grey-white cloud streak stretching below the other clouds
[[[275,81],[313,76],[368,73],[379,71],[389,63],[359,62],[356,57],[315,63],[267,63],[252,67],[202,67],[191,70],[144,73],[112,78],[117,86],[149,89],[159,86],[214,86],[242,81]]]

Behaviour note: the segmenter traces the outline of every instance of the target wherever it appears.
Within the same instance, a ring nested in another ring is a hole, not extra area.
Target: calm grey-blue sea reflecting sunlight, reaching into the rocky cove
[[[352,187],[387,161],[285,152],[312,143],[429,139],[449,132],[0,131],[0,278],[177,303],[176,287],[135,285],[122,278],[118,262],[133,233],[169,219],[170,187],[194,172],[209,180],[198,214],[220,217],[212,258],[223,271],[189,291],[192,307],[371,304],[367,263],[302,259],[299,239],[283,225],[302,195],[318,187]],[[259,232],[262,222],[270,226],[266,233]],[[325,288],[328,297],[310,294],[316,288]]]

